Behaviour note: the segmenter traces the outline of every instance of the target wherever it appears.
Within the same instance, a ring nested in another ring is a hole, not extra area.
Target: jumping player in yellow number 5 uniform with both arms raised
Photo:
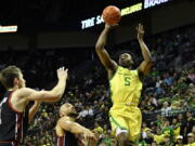
[[[136,27],[138,40],[144,61],[136,69],[132,69],[133,59],[129,53],[122,53],[119,56],[118,64],[113,61],[104,48],[107,35],[113,27],[115,26],[105,24],[105,28],[96,42],[95,51],[108,74],[113,102],[113,107],[109,110],[112,131],[119,145],[126,146],[128,141],[136,143],[141,131],[142,116],[138,105],[143,78],[152,67],[152,57],[143,41],[143,26],[139,24]]]

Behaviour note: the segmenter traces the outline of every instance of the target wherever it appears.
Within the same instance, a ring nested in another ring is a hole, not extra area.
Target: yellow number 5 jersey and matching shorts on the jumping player
[[[128,130],[129,140],[135,141],[141,132],[141,111],[138,108],[142,81],[138,70],[129,70],[118,66],[114,77],[109,80],[113,107],[109,110],[109,120],[113,132],[117,128]]]

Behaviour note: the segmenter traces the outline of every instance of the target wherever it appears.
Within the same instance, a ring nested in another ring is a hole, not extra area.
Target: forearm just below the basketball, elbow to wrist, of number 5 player
[[[101,36],[99,37],[99,40],[96,42],[95,49],[96,50],[102,50],[104,49],[104,45],[107,41],[107,35],[109,32],[109,28],[104,28],[104,30],[102,31]]]

